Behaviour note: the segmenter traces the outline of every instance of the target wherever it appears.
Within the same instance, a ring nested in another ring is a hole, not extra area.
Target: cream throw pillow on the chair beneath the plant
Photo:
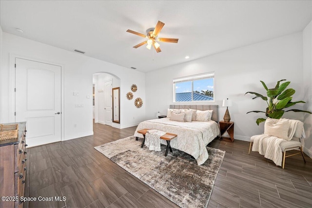
[[[288,139],[289,119],[272,119],[267,118],[264,123],[264,134],[276,136],[285,140]]]

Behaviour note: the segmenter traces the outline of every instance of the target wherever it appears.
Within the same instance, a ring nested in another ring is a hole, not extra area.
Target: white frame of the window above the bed
[[[213,78],[214,80],[214,99],[213,100],[193,100],[193,81],[200,80],[200,79],[207,79],[207,78]],[[176,101],[176,83],[179,82],[186,82],[186,81],[192,81],[192,101]],[[193,76],[184,76],[184,77],[178,77],[173,79],[173,92],[174,92],[174,103],[201,103],[201,102],[215,102],[215,72],[209,72],[205,74],[199,74],[199,75],[193,75]]]

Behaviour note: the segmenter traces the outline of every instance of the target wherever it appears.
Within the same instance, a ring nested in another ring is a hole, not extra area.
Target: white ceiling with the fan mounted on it
[[[126,30],[146,34],[158,20],[159,37],[178,43],[160,42],[160,53],[133,48],[144,38]],[[302,31],[311,20],[311,0],[0,0],[3,32],[142,72]]]

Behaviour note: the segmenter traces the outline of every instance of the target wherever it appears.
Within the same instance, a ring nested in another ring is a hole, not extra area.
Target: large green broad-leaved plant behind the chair
[[[267,91],[267,96],[254,93],[254,92],[247,92],[249,94],[254,94],[256,95],[253,97],[253,99],[260,97],[262,100],[266,101],[268,104],[268,107],[266,111],[250,111],[248,113],[254,112],[254,113],[265,113],[267,117],[270,118],[276,118],[279,119],[283,116],[285,112],[293,111],[293,112],[305,112],[305,113],[310,113],[309,111],[303,111],[303,110],[298,110],[298,109],[290,109],[285,111],[285,108],[289,108],[297,103],[305,103],[304,101],[296,101],[292,102],[292,95],[296,92],[294,89],[286,89],[287,86],[291,83],[290,81],[280,83],[282,81],[285,81],[286,79],[279,80],[277,84],[275,85],[274,88],[268,89],[266,84],[263,81],[260,81],[264,87],[264,89]],[[245,95],[247,94],[245,93]],[[266,118],[258,118],[256,120],[257,125],[259,123],[265,121]]]

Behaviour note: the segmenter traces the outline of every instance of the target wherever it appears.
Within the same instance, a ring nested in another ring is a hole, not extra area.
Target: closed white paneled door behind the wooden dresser
[[[61,140],[61,67],[16,58],[16,122],[29,147]]]

